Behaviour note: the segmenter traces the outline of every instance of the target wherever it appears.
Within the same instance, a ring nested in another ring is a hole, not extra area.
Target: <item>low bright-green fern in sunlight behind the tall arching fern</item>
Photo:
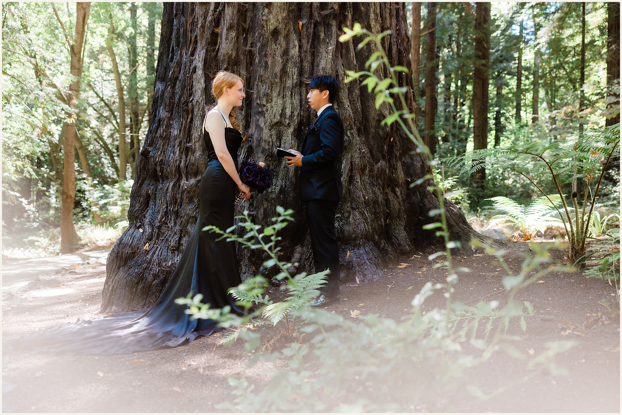
[[[560,206],[560,197],[557,194],[542,196],[534,200],[529,206],[516,203],[505,196],[496,196],[486,199],[493,201],[493,209],[503,214],[490,218],[490,225],[513,224],[523,234],[525,240],[531,240],[537,231],[544,232],[549,226],[559,226],[562,220],[554,217],[557,213],[555,203]]]

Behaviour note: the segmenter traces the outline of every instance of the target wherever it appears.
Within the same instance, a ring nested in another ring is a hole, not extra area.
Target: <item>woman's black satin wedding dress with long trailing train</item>
[[[115,312],[93,320],[80,317],[73,324],[21,337],[16,340],[18,347],[50,355],[113,355],[176,347],[198,335],[220,331],[216,321],[191,320],[184,312],[188,306],[175,303],[176,298],[190,292],[203,294],[202,302],[210,303],[211,308],[230,305],[232,312],[243,314],[228,294],[229,288],[240,283],[234,242],[216,240],[221,235],[202,230],[208,225],[221,230],[233,226],[233,204],[238,190],[218,161],[205,129],[203,140],[209,162],[200,183],[200,214],[177,269],[156,304],[149,309]],[[225,140],[237,168],[241,134],[227,127]]]

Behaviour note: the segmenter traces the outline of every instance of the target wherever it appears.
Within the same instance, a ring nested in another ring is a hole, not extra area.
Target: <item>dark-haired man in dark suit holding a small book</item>
[[[312,307],[324,307],[339,301],[339,252],[335,238],[335,211],[341,201],[341,157],[343,123],[333,103],[339,84],[332,76],[314,76],[309,83],[307,101],[317,118],[307,127],[302,152],[290,149],[296,157],[287,165],[300,167],[300,201],[307,205],[307,221],[315,272],[330,270],[328,282]]]

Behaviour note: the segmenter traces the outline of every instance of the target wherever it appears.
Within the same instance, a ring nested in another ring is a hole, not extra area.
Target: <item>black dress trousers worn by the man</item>
[[[311,250],[315,272],[330,270],[328,283],[320,295],[339,295],[339,251],[335,238],[335,211],[338,201],[313,199],[307,201],[307,221],[311,234]]]

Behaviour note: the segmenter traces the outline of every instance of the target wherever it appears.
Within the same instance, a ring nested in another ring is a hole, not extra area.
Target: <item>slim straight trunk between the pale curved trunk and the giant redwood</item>
[[[128,101],[129,101],[129,151],[131,153],[129,157],[129,165],[131,167],[131,177],[134,177],[134,169],[136,167],[136,153],[139,150],[139,132],[141,130],[140,119],[140,107],[138,104],[138,54],[136,50],[136,32],[138,32],[138,24],[136,18],[137,6],[135,2],[129,6],[129,24],[132,28],[128,36],[128,60],[129,60],[129,80],[128,80]],[[136,150],[134,150],[136,148]]]

